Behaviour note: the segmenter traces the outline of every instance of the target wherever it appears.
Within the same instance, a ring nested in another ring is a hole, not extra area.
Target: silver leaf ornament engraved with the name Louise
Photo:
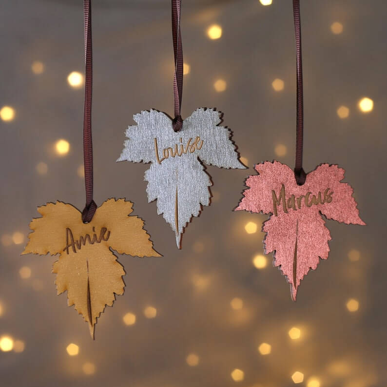
[[[219,126],[222,114],[214,109],[197,109],[174,132],[172,119],[157,110],[136,114],[137,125],[129,126],[129,138],[117,161],[151,162],[145,172],[148,201],[157,199],[157,213],[172,227],[180,249],[181,234],[201,205],[210,204],[210,176],[201,162],[219,168],[246,167],[230,139],[228,128]]]

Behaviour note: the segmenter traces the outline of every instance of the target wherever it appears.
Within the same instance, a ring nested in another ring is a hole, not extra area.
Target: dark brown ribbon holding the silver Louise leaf
[[[181,0],[172,0],[172,38],[174,41],[174,120],[172,122],[175,132],[181,130],[181,98],[183,97],[183,48],[180,33]]]

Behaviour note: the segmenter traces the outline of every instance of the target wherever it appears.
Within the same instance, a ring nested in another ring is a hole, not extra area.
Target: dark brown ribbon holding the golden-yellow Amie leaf
[[[83,163],[85,168],[86,205],[82,220],[93,219],[97,204],[93,200],[93,141],[91,133],[91,102],[93,90],[93,52],[91,34],[91,0],[83,0],[85,28],[85,108],[83,114]]]

